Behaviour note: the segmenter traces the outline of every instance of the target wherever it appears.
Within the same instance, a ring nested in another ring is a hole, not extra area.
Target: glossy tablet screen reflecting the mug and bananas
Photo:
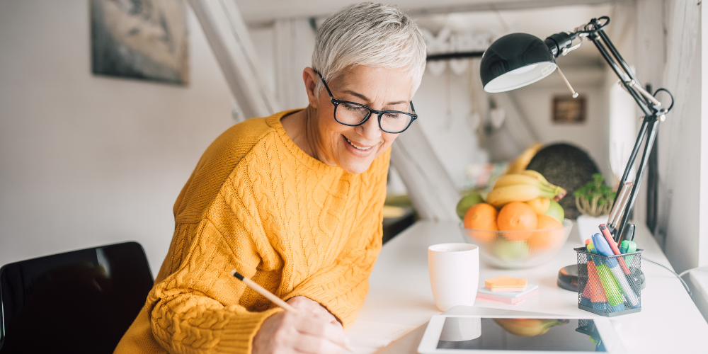
[[[592,319],[445,318],[440,349],[606,352]]]

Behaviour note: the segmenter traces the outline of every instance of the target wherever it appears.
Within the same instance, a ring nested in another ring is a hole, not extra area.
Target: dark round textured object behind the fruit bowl
[[[566,218],[573,220],[580,216],[573,192],[593,181],[594,173],[600,173],[590,155],[571,144],[544,147],[531,159],[526,169],[538,171],[550,183],[568,191],[559,203],[566,212]]]

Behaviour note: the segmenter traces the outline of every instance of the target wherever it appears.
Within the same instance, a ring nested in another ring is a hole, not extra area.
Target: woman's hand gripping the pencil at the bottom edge
[[[315,304],[317,303],[315,302]],[[295,307],[295,304],[292,305]],[[300,305],[311,306],[307,304]],[[324,307],[321,308],[324,309]],[[341,324],[336,319],[333,320],[336,325],[333,324],[324,314],[315,315],[302,308],[299,309],[301,309],[299,314],[279,312],[263,321],[261,329],[253,337],[252,353],[343,353],[346,336],[344,336]],[[324,311],[332,319],[334,318],[326,309]]]

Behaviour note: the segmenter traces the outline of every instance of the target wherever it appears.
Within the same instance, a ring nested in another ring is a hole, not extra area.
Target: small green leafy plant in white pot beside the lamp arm
[[[615,192],[605,185],[605,176],[600,173],[593,174],[593,181],[588,182],[583,188],[576,190],[576,207],[581,212],[578,222],[578,232],[581,240],[588,239],[593,234],[600,232],[598,226],[607,223],[612,204],[615,202]]]

